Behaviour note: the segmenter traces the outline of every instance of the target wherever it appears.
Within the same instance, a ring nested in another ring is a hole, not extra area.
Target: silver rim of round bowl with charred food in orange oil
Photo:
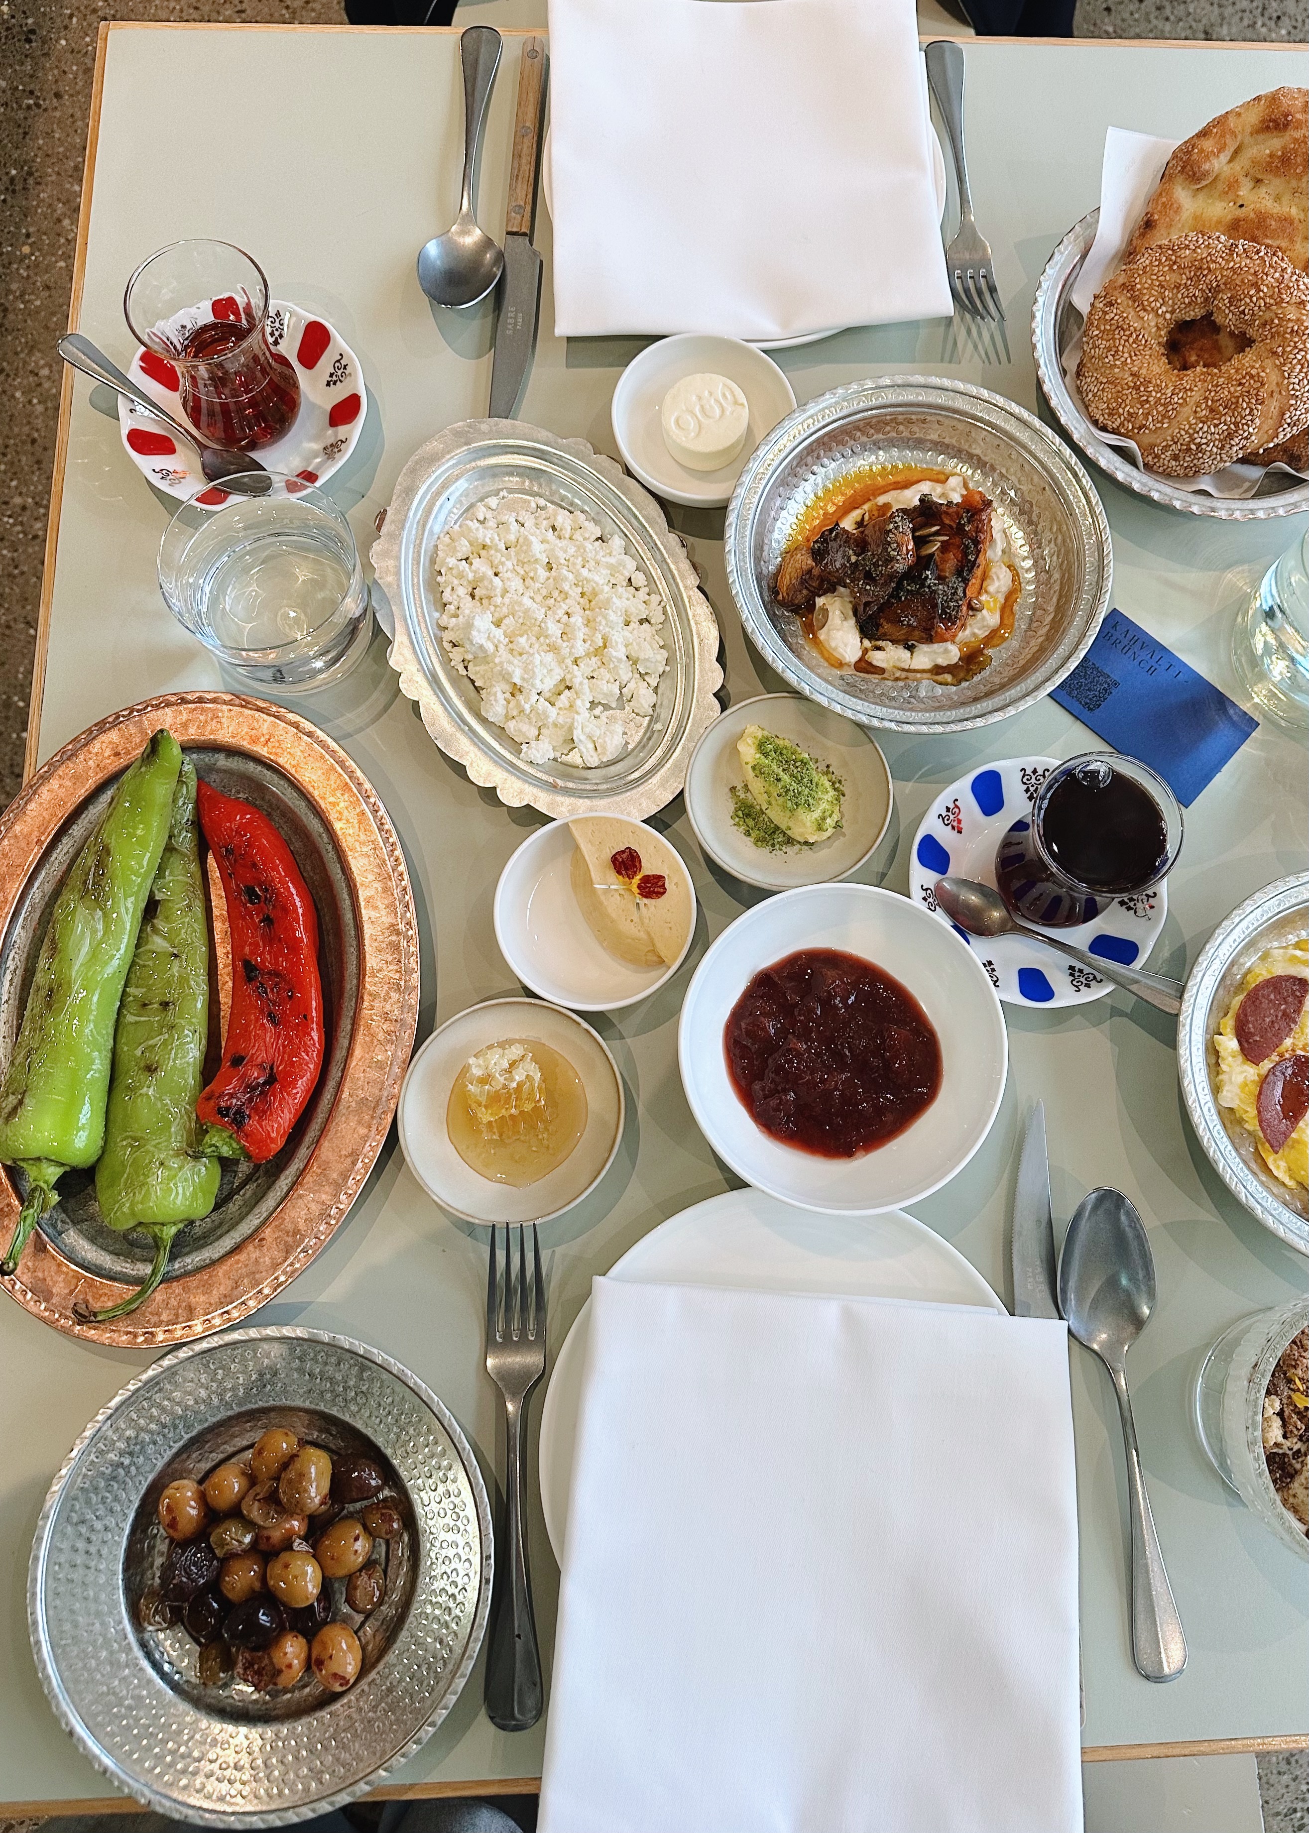
[[[1025,451],[1028,466],[1045,471],[1056,480],[1065,497],[1076,504],[1076,511],[1067,510],[1067,532],[1074,548],[1082,550],[1085,579],[1072,607],[1067,627],[1074,640],[1065,638],[1063,647],[1054,656],[1006,689],[996,695],[997,704],[974,700],[961,704],[957,713],[942,708],[909,709],[898,704],[874,704],[854,697],[840,687],[829,686],[818,673],[807,669],[781,640],[774,616],[755,577],[754,565],[754,528],[768,486],[790,458],[792,451],[829,431],[843,420],[876,409],[922,411],[955,418],[962,423],[983,427],[992,438],[1006,440]],[[1096,489],[1080,460],[1056,438],[1041,422],[1028,414],[1025,407],[1010,401],[1003,394],[981,389],[970,381],[955,381],[948,376],[871,376],[865,381],[845,383],[816,396],[794,414],[779,422],[772,433],[755,447],[746,464],[732,502],[728,504],[724,526],[724,563],[728,588],[741,612],[746,636],[759,654],[776,669],[798,693],[852,719],[858,726],[871,726],[886,731],[946,733],[974,731],[996,720],[1021,713],[1041,700],[1056,687],[1082,660],[1109,609],[1113,590],[1113,544],[1109,541],[1109,522]],[[981,708],[981,709],[979,709]]]

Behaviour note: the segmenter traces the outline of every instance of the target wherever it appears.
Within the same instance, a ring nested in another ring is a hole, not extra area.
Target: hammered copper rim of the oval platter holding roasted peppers
[[[354,761],[310,720],[231,693],[158,695],[72,739],[0,816],[0,938],[60,825],[139,755],[160,724],[180,744],[244,752],[286,772],[330,829],[359,922],[359,1003],[345,1074],[304,1173],[268,1221],[213,1267],[167,1279],[130,1318],[79,1323],[73,1301],[101,1309],[128,1287],[95,1279],[33,1230],[0,1285],[42,1323],[88,1342],[147,1349],[236,1323],[314,1259],[359,1195],[400,1098],[418,1028],[418,918],[400,840]],[[0,1171],[0,1234],[18,1197]]]

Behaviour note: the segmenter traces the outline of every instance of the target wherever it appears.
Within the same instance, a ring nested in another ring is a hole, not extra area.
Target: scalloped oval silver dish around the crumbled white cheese
[[[528,495],[588,515],[618,535],[664,607],[667,667],[654,713],[632,750],[583,768],[528,763],[510,735],[482,717],[478,693],[442,642],[434,552],[440,535],[486,497]],[[623,814],[664,808],[686,783],[691,752],[719,717],[719,625],[658,502],[585,440],[563,440],[517,420],[466,420],[420,447],[400,473],[372,548],[396,634],[390,665],[418,702],[427,731],[473,783],[512,808],[543,814]]]

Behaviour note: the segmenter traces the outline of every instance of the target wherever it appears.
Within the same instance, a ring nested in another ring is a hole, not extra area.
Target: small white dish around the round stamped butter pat
[[[717,471],[691,471],[664,444],[660,407],[684,376],[726,376],[750,403],[750,431],[732,460]],[[660,337],[627,365],[618,378],[610,418],[614,438],[629,471],[671,502],[720,510],[732,495],[750,453],[796,407],[796,392],[770,356],[737,337],[688,334]]]

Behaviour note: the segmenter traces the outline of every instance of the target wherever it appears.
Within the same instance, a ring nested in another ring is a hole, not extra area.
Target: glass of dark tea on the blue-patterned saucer
[[[1115,898],[1157,885],[1181,843],[1182,812],[1153,770],[1116,752],[1087,752],[1052,770],[1032,819],[1008,829],[996,885],[1023,922],[1071,929]]]

